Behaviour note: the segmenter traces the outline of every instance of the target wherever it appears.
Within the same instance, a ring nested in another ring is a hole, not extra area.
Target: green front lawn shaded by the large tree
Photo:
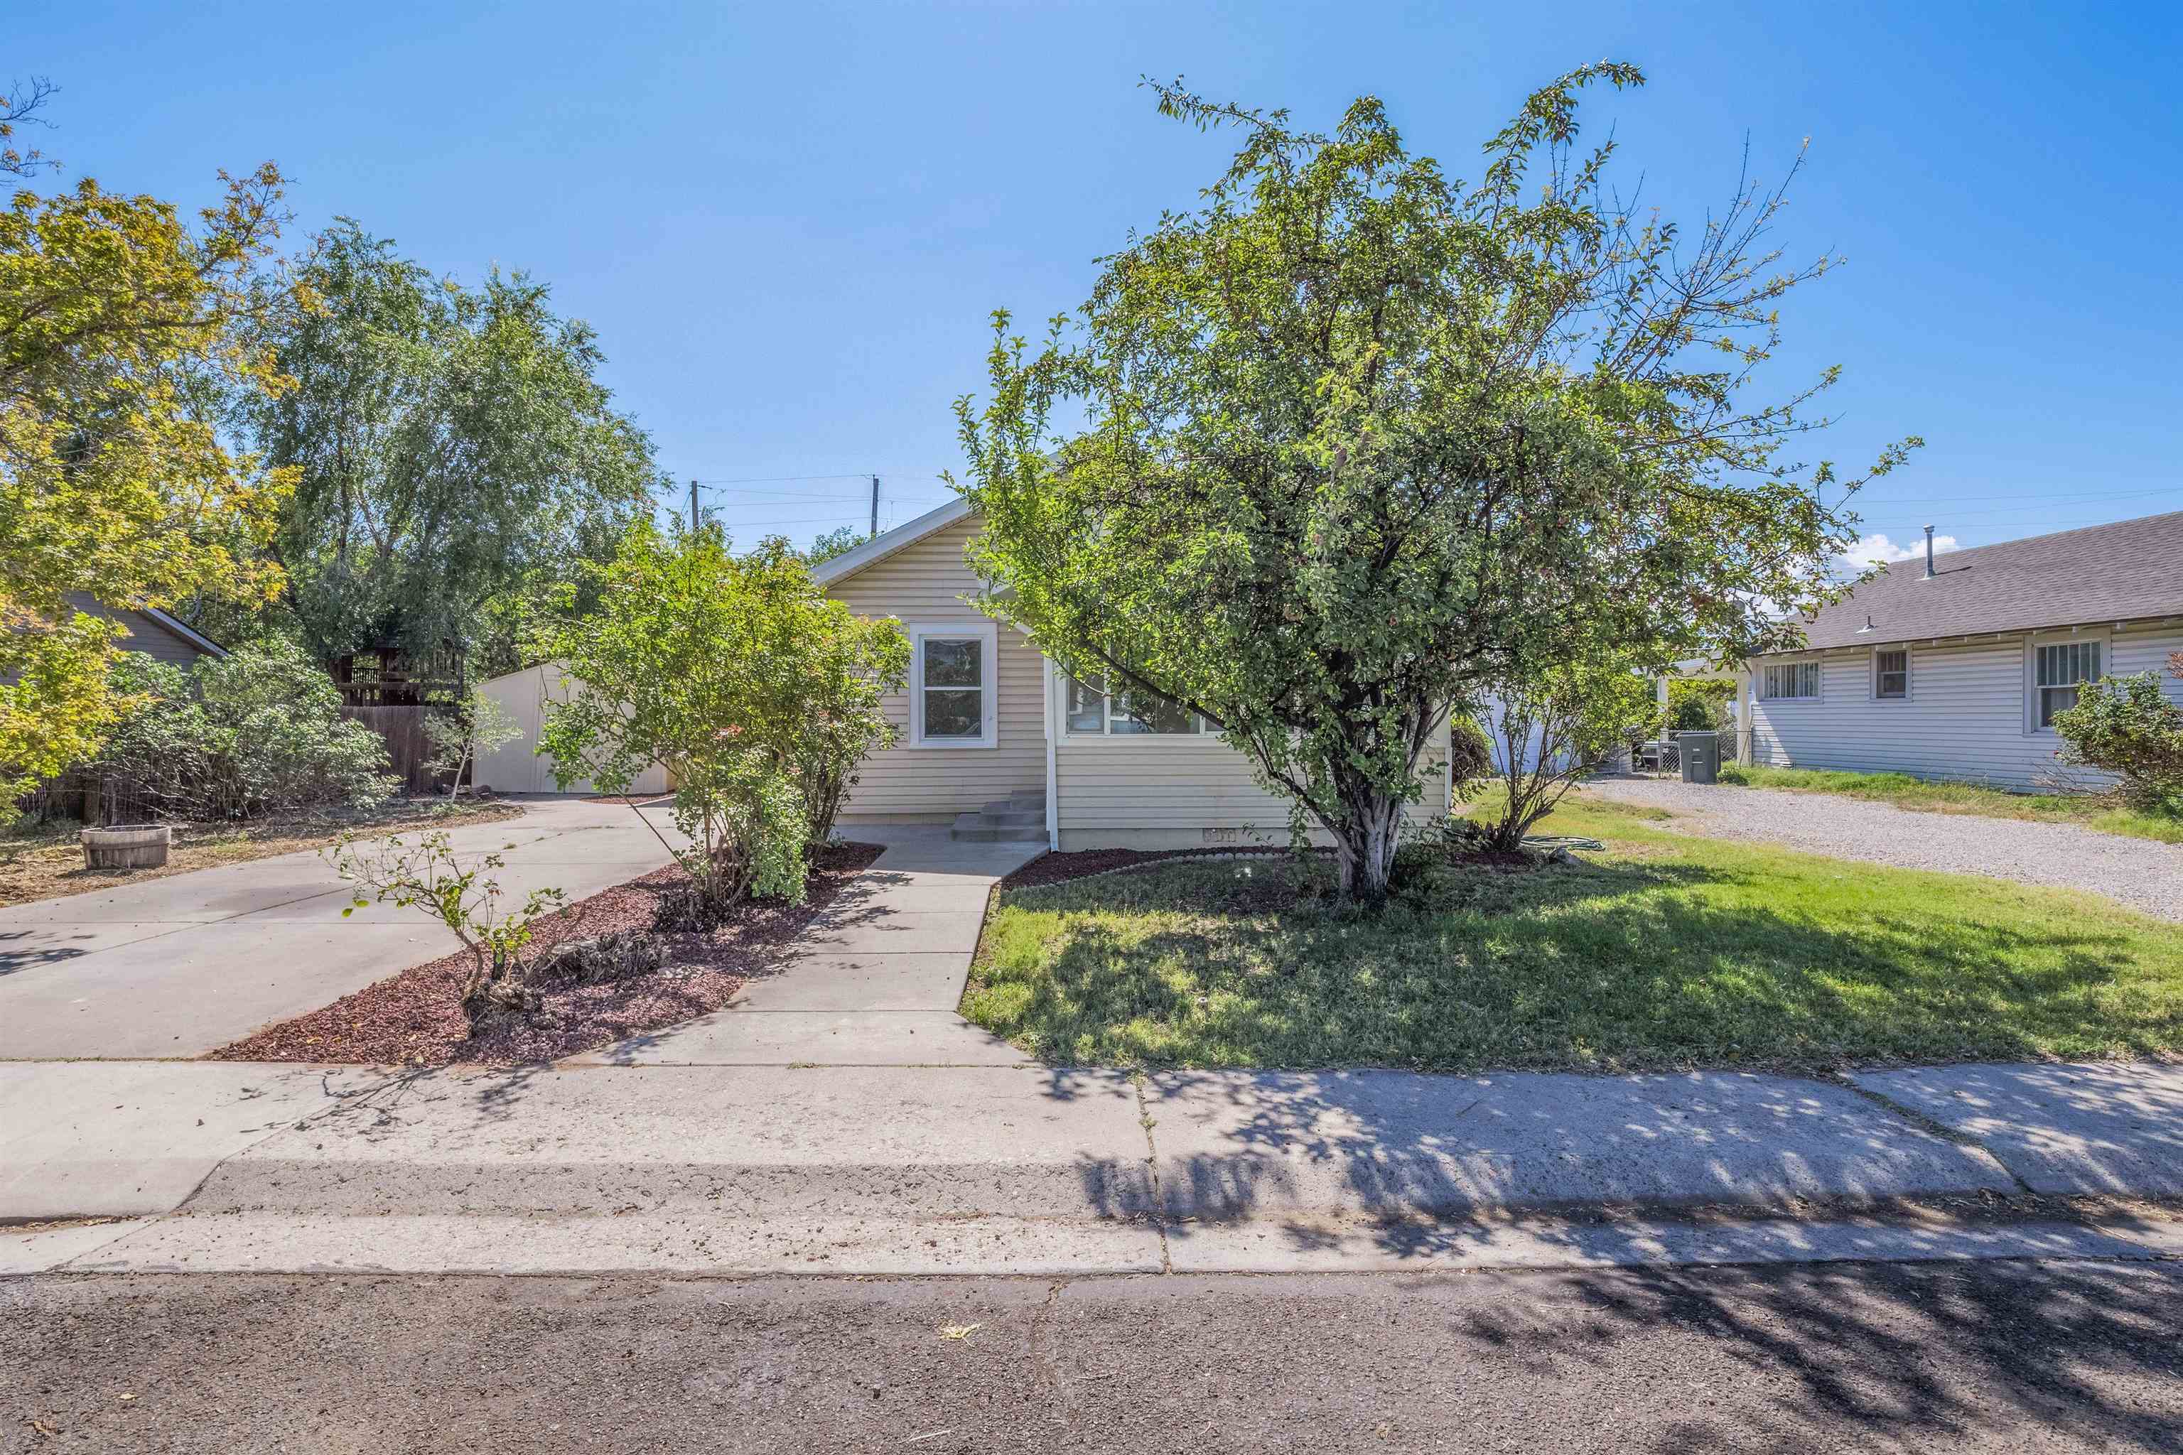
[[[1993,879],[1663,833],[1572,805],[1580,868],[1434,870],[1380,918],[1325,868],[1013,890],[963,1014],[1054,1065],[1434,1071],[2161,1056],[2183,927]],[[1301,881],[1299,881],[1301,875]]]

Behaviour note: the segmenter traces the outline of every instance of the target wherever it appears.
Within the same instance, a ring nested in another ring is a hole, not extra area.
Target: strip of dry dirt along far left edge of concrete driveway
[[[175,825],[175,846],[159,868],[85,868],[76,825],[28,829],[0,838],[0,905],[24,905],[39,899],[65,899],[109,890],[138,879],[166,879],[220,864],[271,859],[279,853],[323,849],[343,833],[375,833],[380,829],[465,829],[498,818],[522,818],[520,803],[458,803],[445,811],[445,798],[404,798],[371,814],[334,818],[269,818],[240,825]]]

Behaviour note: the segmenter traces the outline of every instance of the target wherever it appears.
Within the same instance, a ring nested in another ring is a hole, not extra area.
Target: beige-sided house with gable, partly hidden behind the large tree
[[[978,517],[961,500],[812,569],[858,615],[897,617],[910,685],[899,731],[871,755],[843,822],[950,822],[958,838],[1054,849],[1286,842],[1288,798],[1190,713],[1072,683],[1033,641],[980,615],[963,561]],[[1447,811],[1447,729],[1412,816]]]

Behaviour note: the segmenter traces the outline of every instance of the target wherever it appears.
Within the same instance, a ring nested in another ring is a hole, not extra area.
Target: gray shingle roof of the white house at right
[[[2183,615],[2183,510],[1897,561],[1803,630],[1814,648]],[[1864,630],[1866,617],[1873,628]]]

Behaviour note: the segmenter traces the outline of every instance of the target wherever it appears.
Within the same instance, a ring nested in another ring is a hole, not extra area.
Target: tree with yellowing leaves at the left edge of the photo
[[[0,100],[0,175],[46,166],[9,140],[44,98]],[[194,220],[92,179],[0,212],[0,798],[90,757],[120,709],[122,633],[81,598],[247,602],[279,582],[258,548],[290,476],[229,449],[207,399],[279,390],[242,325],[293,299],[251,288],[282,177],[223,181]]]

